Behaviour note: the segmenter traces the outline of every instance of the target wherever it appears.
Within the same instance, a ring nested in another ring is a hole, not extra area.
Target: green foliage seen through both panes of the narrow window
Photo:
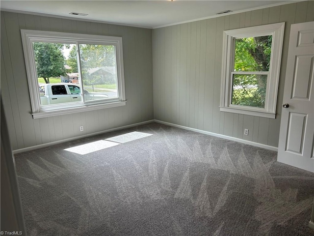
[[[235,39],[231,104],[265,107],[271,45],[272,35]]]

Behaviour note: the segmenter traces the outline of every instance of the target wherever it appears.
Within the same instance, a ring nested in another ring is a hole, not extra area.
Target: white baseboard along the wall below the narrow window
[[[160,123],[160,124],[173,126],[173,127],[177,127],[177,128],[181,128],[181,129],[194,131],[194,132],[197,132],[197,133],[202,133],[202,134],[215,136],[215,137],[222,138],[222,139],[227,139],[227,140],[239,142],[239,143],[242,143],[242,144],[248,144],[248,145],[251,145],[251,146],[258,147],[258,148],[265,148],[265,149],[272,150],[272,151],[278,151],[277,147],[273,147],[273,146],[269,146],[269,145],[265,145],[265,144],[259,144],[259,143],[255,143],[255,142],[247,141],[247,140],[243,140],[243,139],[238,139],[238,138],[230,137],[230,136],[223,135],[223,134],[216,134],[216,133],[212,133],[212,132],[209,132],[209,131],[204,131],[204,130],[200,130],[200,129],[186,127],[186,126],[183,126],[183,125],[168,123],[168,122],[164,122],[164,121],[161,121],[161,120],[158,120],[158,119],[155,119],[155,122]]]

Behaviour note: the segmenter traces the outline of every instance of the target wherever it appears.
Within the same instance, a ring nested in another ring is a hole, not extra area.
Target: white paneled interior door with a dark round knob
[[[314,172],[314,22],[291,25],[278,161]],[[285,108],[285,104],[286,108]]]

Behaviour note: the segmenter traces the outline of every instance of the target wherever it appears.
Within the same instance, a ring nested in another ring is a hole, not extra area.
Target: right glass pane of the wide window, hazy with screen
[[[80,44],[85,100],[118,98],[114,45]]]

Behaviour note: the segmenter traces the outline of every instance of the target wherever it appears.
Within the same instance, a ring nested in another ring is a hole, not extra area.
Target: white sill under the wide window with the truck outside
[[[58,109],[58,110],[51,110],[51,111],[40,111],[38,113],[33,113],[33,118],[45,118],[45,117],[54,117],[54,116],[61,116],[61,115],[68,115],[73,113],[79,113],[79,112],[88,112],[88,111],[94,111],[94,110],[100,110],[110,107],[120,107],[125,106],[126,101],[119,101],[119,102],[111,102],[106,104],[98,104],[98,105],[89,105],[89,106],[80,106],[75,108],[64,108],[64,109]]]

